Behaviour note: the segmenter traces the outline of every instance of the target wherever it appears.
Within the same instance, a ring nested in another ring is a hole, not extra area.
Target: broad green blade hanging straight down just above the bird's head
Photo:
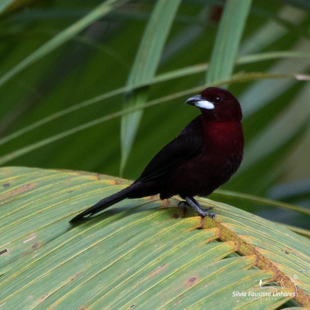
[[[230,78],[251,0],[228,0],[219,24],[206,82]]]

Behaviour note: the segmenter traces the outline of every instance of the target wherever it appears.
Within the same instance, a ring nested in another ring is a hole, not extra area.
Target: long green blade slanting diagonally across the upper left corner
[[[54,51],[57,47],[60,47],[62,44],[73,38],[80,31],[85,29],[94,21],[100,19],[102,16],[108,14],[109,12],[115,10],[117,7],[120,7],[124,3],[129,0],[107,0],[97,6],[94,10],[92,10],[89,14],[84,16],[82,19],[78,20],[76,23],[69,26],[67,29],[64,29],[59,34],[57,34],[54,38],[43,44],[36,51],[31,53],[29,56],[24,58],[19,64],[17,64],[10,71],[5,73],[0,78],[0,86],[6,83],[9,79],[11,79],[15,74],[19,73],[30,64],[35,61],[41,59],[43,56],[47,55],[51,51]]]

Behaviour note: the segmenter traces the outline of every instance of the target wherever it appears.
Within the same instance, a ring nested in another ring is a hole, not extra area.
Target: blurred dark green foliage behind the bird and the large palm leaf
[[[225,5],[170,1],[171,7],[156,16],[159,2],[164,1],[2,0],[2,166],[139,177],[150,159],[200,113],[184,102],[208,81],[207,63]],[[212,81],[228,88],[241,103],[244,160],[237,174],[210,198],[309,228],[310,2],[254,0],[245,20],[240,45],[235,41],[232,80]],[[233,38],[237,27],[229,31]],[[141,64],[150,47],[153,54]],[[125,85],[126,91],[109,96]],[[132,90],[133,85],[141,87]],[[100,95],[106,99],[97,98]],[[170,95],[170,100],[160,99]],[[157,99],[155,104],[152,100]],[[143,114],[112,117],[145,102],[154,104]],[[70,107],[47,122],[46,117]],[[273,207],[271,201],[253,195],[304,209]]]

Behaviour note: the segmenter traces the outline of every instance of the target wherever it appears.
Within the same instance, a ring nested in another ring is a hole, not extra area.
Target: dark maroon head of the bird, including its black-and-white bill
[[[231,120],[241,121],[242,111],[238,100],[225,89],[208,87],[199,95],[193,96],[185,103],[200,108],[201,113],[208,120],[226,122]]]

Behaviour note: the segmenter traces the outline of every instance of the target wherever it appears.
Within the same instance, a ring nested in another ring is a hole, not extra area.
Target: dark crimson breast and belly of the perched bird
[[[209,195],[230,179],[242,161],[240,122],[208,124],[203,128],[203,136],[203,151],[179,166],[169,179],[173,191],[181,197]]]

